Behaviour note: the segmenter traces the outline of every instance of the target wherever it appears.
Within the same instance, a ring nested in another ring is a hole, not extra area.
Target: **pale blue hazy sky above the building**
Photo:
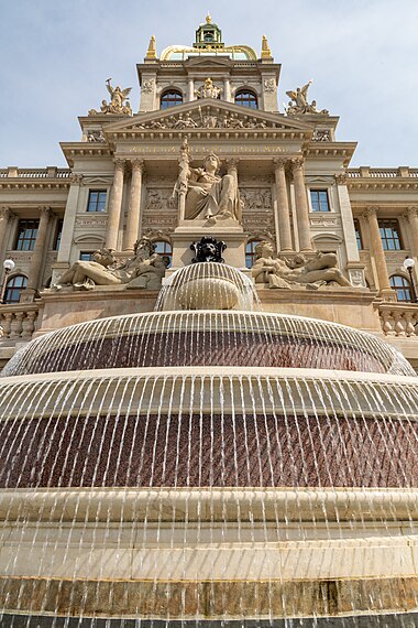
[[[267,36],[282,112],[314,78],[309,100],[359,142],[350,165],[418,167],[418,0],[0,0],[0,167],[66,166],[59,142],[80,140],[106,79],[138,111],[150,36],[191,45],[208,11],[227,45],[260,55]]]

